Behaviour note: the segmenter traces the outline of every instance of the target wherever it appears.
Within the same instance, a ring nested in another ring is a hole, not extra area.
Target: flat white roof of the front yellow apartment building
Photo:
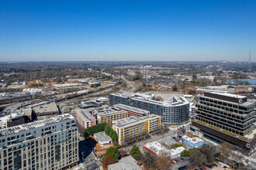
[[[147,119],[152,119],[152,118],[157,118],[157,117],[161,117],[161,116],[158,116],[156,114],[149,114],[144,117],[131,116],[131,117],[126,117],[126,118],[119,119],[116,121],[112,121],[112,124],[119,128],[125,128],[126,126],[142,123],[142,122],[146,121]]]

